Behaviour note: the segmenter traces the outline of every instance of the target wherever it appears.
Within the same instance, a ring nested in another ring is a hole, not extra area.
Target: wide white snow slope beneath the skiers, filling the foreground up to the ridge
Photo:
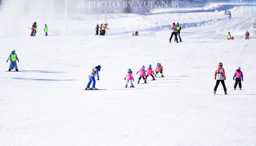
[[[256,41],[244,40],[254,17],[185,31],[180,44],[169,44],[169,31],[0,38],[0,145],[256,145]],[[6,72],[13,49],[22,72]],[[220,85],[214,96],[221,61],[228,95]],[[165,78],[124,88],[127,69],[136,82],[141,66],[157,62]],[[97,65],[96,87],[106,90],[84,91]],[[243,90],[234,91],[238,66]]]

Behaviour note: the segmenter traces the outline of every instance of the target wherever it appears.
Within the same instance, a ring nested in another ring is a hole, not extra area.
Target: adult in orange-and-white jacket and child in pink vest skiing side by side
[[[216,80],[216,85],[213,89],[213,94],[216,94],[216,90],[221,82],[223,89],[224,89],[224,93],[227,94],[227,88],[225,85],[224,80],[226,80],[226,75],[225,75],[225,70],[222,67],[223,64],[222,62],[219,63],[218,69],[215,70],[214,73],[214,78]],[[234,87],[233,89],[237,89],[237,86],[239,85],[239,89],[242,90],[242,83],[241,80],[244,81],[244,76],[243,76],[243,72],[241,71],[241,67],[238,67],[237,70],[235,71],[234,75],[233,75],[233,80],[235,80],[234,83]]]

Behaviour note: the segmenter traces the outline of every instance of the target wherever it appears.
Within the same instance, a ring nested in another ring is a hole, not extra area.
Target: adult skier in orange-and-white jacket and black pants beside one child
[[[221,82],[222,86],[223,86],[223,89],[224,89],[224,93],[227,94],[227,88],[226,88],[226,85],[225,85],[225,82],[224,80],[226,79],[226,75],[225,75],[225,70],[224,68],[222,68],[223,64],[222,62],[219,63],[219,66],[218,66],[218,69],[215,70],[215,73],[214,73],[214,78],[216,80],[216,85],[213,89],[213,94],[215,95],[216,93],[216,90]]]

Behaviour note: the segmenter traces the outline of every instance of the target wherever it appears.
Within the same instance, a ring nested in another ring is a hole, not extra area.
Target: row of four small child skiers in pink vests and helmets
[[[147,72],[147,74],[146,74],[146,72]],[[156,77],[157,73],[159,73],[159,72],[162,75],[161,77],[164,77],[163,66],[160,63],[156,64],[155,73],[154,73],[154,71],[152,69],[152,65],[149,65],[147,70],[145,70],[145,66],[142,66],[142,68],[139,71],[137,71],[137,73],[136,73],[136,74],[139,73],[139,76],[140,76],[138,81],[137,81],[137,84],[140,84],[140,80],[142,78],[144,80],[144,84],[146,84],[147,83],[147,78],[149,76],[152,77],[152,80],[155,80],[155,77]],[[134,87],[133,82],[132,82],[132,81],[134,81],[134,77],[133,77],[131,69],[128,69],[127,74],[125,76],[125,80],[126,80],[125,88],[128,87],[129,82],[131,83],[130,88]]]

